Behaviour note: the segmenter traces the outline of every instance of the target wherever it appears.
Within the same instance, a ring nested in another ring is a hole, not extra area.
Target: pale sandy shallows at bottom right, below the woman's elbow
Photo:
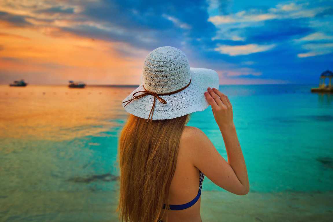
[[[328,222],[333,221],[333,191],[249,192],[244,196],[203,191],[200,213],[203,222]]]

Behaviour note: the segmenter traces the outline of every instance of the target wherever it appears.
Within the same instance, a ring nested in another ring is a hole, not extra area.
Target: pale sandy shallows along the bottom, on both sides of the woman
[[[15,192],[0,196],[0,221],[118,221],[116,193]],[[202,191],[203,222],[332,221],[333,191],[229,192]]]

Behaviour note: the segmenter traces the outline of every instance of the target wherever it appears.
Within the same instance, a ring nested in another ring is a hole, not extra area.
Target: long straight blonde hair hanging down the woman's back
[[[119,138],[121,221],[157,222],[176,168],[181,132],[189,114],[148,121],[130,114]],[[163,215],[167,210],[163,210]]]

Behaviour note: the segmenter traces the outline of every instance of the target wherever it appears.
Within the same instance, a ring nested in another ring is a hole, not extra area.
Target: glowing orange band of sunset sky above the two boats
[[[69,79],[88,84],[139,84],[148,51],[133,51],[128,44],[95,40],[53,27],[12,27],[0,24],[0,71],[44,73],[48,81],[66,84]],[[119,51],[135,52],[125,55]],[[9,74],[7,74],[9,75]],[[7,78],[8,79],[8,78]],[[27,79],[31,84],[41,83]]]

